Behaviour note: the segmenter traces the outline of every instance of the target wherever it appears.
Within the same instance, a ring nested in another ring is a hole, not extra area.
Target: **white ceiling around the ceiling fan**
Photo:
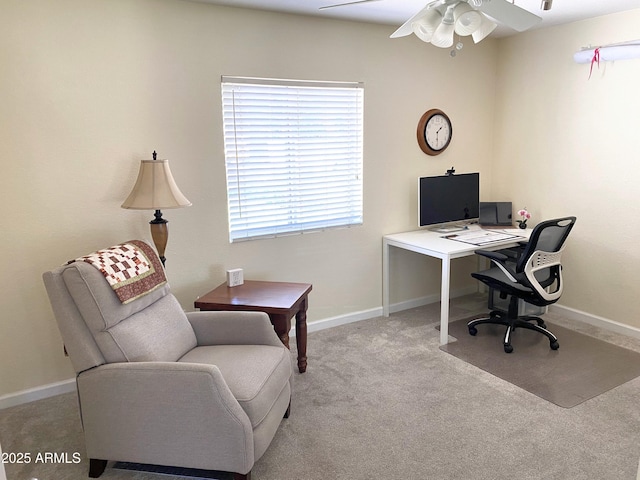
[[[255,8],[289,12],[303,15],[315,15],[327,18],[341,18],[362,22],[383,23],[399,27],[413,14],[420,11],[430,0],[375,0],[367,3],[346,5],[320,10],[320,7],[354,0],[195,0],[232,7]],[[514,3],[542,17],[534,28],[571,23],[586,18],[598,17],[609,13],[640,8],[640,0],[554,0],[551,10],[540,9],[541,0],[514,0]],[[391,32],[390,32],[391,33]],[[514,30],[499,27],[492,36],[512,35]]]

